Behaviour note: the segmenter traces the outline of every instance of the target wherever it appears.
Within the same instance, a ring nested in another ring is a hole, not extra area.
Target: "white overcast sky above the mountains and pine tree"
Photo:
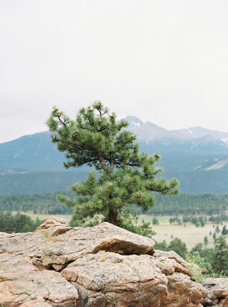
[[[227,0],[0,0],[0,142],[95,99],[118,119],[228,132],[227,16]]]

